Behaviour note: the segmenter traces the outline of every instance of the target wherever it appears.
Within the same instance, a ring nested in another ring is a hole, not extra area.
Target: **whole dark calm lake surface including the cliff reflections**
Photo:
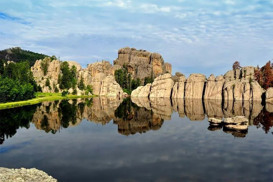
[[[123,102],[122,102],[123,101]],[[246,116],[246,132],[207,117]],[[273,105],[147,98],[0,110],[0,166],[58,181],[272,181]]]

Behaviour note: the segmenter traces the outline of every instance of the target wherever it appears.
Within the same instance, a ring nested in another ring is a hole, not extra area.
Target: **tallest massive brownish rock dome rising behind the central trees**
[[[139,78],[142,83],[145,77],[151,75],[156,77],[159,74],[172,72],[171,64],[164,63],[159,53],[129,47],[118,50],[118,58],[113,61],[113,64],[127,66],[127,71],[132,74],[132,78]]]

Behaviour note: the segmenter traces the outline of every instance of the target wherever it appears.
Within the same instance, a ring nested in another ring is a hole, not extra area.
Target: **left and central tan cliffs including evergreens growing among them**
[[[54,56],[37,60],[31,71],[42,92],[67,89],[81,95],[86,92],[85,86],[92,85],[95,95],[117,96],[130,94],[139,85],[152,83],[156,75],[171,73],[172,69],[159,53],[129,47],[121,48],[113,62],[112,66],[109,61],[97,61],[82,68],[75,61],[60,61]]]

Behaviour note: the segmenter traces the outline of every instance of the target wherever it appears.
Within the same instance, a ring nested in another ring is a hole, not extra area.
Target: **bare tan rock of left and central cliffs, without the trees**
[[[48,63],[48,69],[46,75],[42,70],[42,62]],[[132,78],[139,78],[144,83],[144,78],[151,75],[160,75],[163,73],[171,73],[172,66],[169,63],[164,63],[164,59],[159,53],[151,53],[148,51],[136,50],[135,48],[121,48],[118,50],[118,58],[114,60],[112,66],[109,61],[100,61],[89,64],[86,68],[82,68],[81,65],[75,61],[67,61],[69,67],[76,66],[77,80],[81,78],[84,80],[85,85],[93,85],[94,94],[101,96],[117,96],[126,95],[123,93],[120,85],[115,81],[114,74],[118,69],[125,69],[132,74]],[[50,81],[50,86],[53,88],[53,84],[57,86],[59,92],[62,90],[59,88],[58,75],[61,73],[61,61],[51,60],[50,57],[46,57],[43,60],[37,60],[34,66],[31,67],[33,76],[38,85],[42,87],[43,92],[53,92],[49,87],[45,86],[47,78]],[[78,90],[78,89],[77,89]],[[80,92],[78,90],[78,94]]]

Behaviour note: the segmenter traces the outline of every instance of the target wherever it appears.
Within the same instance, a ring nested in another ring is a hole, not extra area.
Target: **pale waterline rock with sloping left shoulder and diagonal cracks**
[[[167,73],[156,77],[151,85],[150,98],[170,98],[174,81],[171,79],[172,75]]]

